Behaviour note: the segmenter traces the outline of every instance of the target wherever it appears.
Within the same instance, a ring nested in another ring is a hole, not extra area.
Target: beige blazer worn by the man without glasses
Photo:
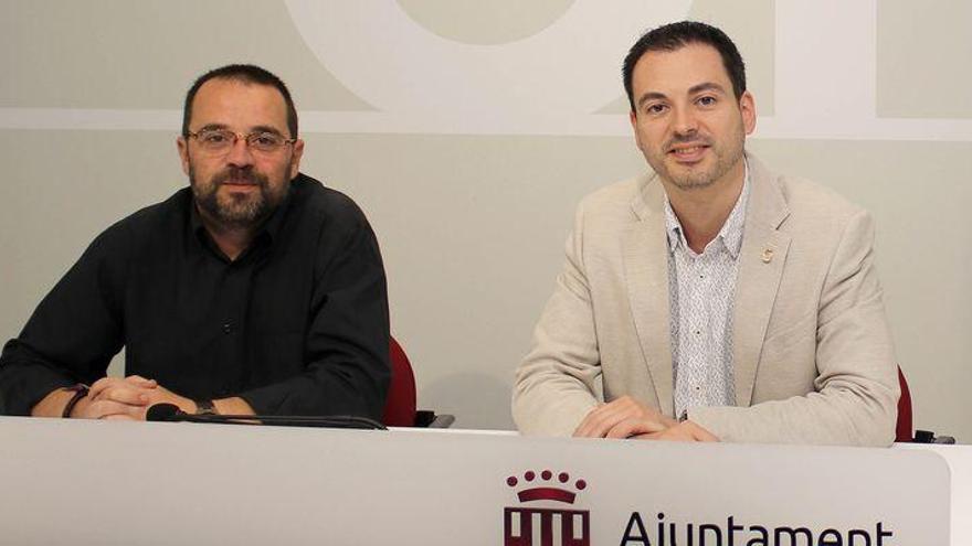
[[[723,441],[888,446],[898,382],[870,216],[748,156],[736,286],[736,405],[690,408]],[[602,398],[672,416],[664,189],[654,174],[589,196],[516,375],[526,433],[568,436]]]

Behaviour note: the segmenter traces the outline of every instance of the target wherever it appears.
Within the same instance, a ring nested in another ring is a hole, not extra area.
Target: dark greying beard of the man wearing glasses
[[[220,188],[228,181],[254,185],[258,191],[220,192]],[[262,224],[284,201],[290,186],[287,183],[271,184],[266,174],[254,171],[252,167],[228,167],[210,180],[200,181],[191,162],[189,184],[201,211],[222,227],[232,229],[252,228]],[[275,185],[278,190],[274,189]]]

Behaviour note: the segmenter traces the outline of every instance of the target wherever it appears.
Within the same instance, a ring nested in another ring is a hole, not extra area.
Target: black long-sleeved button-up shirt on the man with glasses
[[[229,260],[189,188],[101,234],[0,355],[0,413],[91,384],[125,347],[126,375],[263,415],[380,419],[388,295],[378,243],[346,195],[299,174]]]

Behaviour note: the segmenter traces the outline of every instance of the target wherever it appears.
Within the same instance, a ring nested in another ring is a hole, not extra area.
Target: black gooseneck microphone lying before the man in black
[[[279,416],[279,415],[193,415],[175,404],[155,404],[145,413],[145,420],[161,422],[215,422],[220,425],[271,425],[281,427],[352,428],[388,430],[384,425],[353,415]]]

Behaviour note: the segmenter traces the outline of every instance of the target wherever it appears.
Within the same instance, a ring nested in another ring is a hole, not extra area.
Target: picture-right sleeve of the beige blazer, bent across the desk
[[[795,365],[795,364],[794,364]],[[886,447],[895,439],[899,386],[874,264],[874,223],[854,214],[821,291],[814,392],[751,407],[690,408],[723,441]]]

